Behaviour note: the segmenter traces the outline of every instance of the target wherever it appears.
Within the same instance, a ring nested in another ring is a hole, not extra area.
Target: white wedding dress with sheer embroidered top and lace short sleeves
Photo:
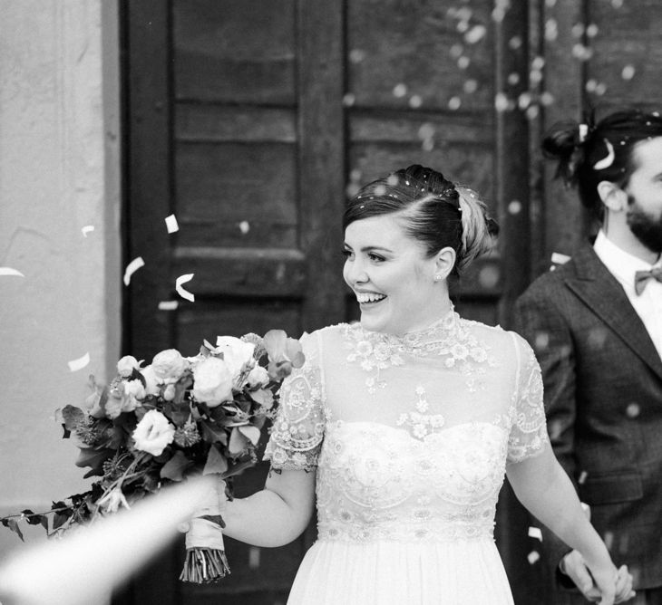
[[[403,337],[340,324],[302,342],[266,453],[316,471],[288,605],[511,604],[497,496],[549,443],[531,347],[453,310]]]

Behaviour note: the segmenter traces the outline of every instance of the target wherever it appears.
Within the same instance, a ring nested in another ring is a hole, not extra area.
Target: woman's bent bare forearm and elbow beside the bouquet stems
[[[271,470],[263,490],[235,498],[223,512],[230,538],[255,546],[282,546],[307,527],[315,506],[314,470]]]

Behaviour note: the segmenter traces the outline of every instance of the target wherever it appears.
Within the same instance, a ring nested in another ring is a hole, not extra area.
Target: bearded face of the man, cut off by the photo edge
[[[662,253],[662,137],[639,142],[628,180],[628,226],[652,252]]]

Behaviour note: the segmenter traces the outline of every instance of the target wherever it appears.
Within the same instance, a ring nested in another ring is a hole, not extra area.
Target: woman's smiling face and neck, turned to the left
[[[443,312],[443,285],[434,281],[437,259],[427,258],[423,245],[405,233],[403,220],[394,214],[370,216],[346,228],[343,276],[356,294],[366,330],[421,330]]]

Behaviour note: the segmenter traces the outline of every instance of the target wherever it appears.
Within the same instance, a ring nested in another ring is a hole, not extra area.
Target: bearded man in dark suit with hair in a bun
[[[515,330],[540,361],[556,456],[634,577],[631,602],[662,604],[662,118],[566,124],[543,149],[601,228],[522,294]],[[557,586],[555,604],[598,595],[578,552],[549,532],[543,550],[583,593]]]

